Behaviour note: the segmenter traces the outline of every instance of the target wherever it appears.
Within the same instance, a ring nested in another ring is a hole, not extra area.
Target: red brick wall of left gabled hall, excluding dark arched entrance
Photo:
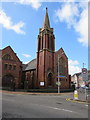
[[[10,55],[11,58],[4,58],[6,54]],[[16,88],[20,86],[22,76],[22,62],[19,60],[16,53],[14,53],[10,46],[2,50],[2,80],[4,80],[4,76],[6,75],[14,77]]]

